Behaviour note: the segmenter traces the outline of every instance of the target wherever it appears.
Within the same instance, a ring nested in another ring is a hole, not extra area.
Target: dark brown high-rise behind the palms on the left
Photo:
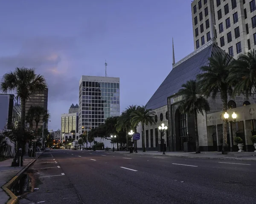
[[[26,114],[30,108],[30,106],[41,106],[45,110],[47,110],[48,107],[48,89],[45,90],[44,93],[38,93],[31,95],[29,99],[26,101]],[[43,120],[40,119],[40,122],[38,123],[38,127],[43,126]],[[44,128],[48,127],[48,121],[44,124]],[[35,129],[35,121],[33,121],[33,129]]]

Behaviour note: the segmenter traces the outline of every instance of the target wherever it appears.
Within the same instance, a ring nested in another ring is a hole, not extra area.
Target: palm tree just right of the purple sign
[[[131,113],[131,124],[137,126],[141,123],[142,125],[142,147],[143,152],[145,152],[145,134],[144,126],[148,124],[155,124],[154,120],[155,112],[152,109],[147,109],[146,106],[139,106],[138,109]]]

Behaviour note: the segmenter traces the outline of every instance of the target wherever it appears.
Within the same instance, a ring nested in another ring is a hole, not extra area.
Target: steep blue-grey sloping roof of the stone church
[[[209,64],[209,57],[215,53],[225,53],[214,43],[206,45],[200,51],[197,50],[186,56],[173,67],[172,71],[159,86],[157,91],[152,95],[146,104],[148,109],[157,109],[167,105],[167,98],[179,91],[183,83],[188,80],[195,80],[196,76],[201,73],[201,67]]]

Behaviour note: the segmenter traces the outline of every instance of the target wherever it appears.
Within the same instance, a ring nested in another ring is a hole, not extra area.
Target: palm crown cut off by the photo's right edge
[[[251,50],[246,54],[239,55],[238,60],[230,70],[229,81],[236,81],[233,96],[244,93],[246,97],[256,93],[256,52]]]

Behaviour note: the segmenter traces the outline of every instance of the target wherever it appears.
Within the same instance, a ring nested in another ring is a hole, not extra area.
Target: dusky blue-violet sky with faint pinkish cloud
[[[0,78],[35,68],[49,86],[48,129],[79,102],[81,75],[120,78],[120,111],[145,105],[194,51],[191,0],[0,1]]]

